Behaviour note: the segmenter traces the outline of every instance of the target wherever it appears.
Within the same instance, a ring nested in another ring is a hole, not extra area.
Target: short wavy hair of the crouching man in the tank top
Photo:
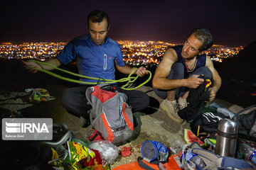
[[[210,31],[206,28],[194,28],[189,36],[192,34],[194,34],[196,38],[203,43],[203,45],[198,49],[199,52],[208,50],[211,46],[213,46],[213,38],[210,35]]]

